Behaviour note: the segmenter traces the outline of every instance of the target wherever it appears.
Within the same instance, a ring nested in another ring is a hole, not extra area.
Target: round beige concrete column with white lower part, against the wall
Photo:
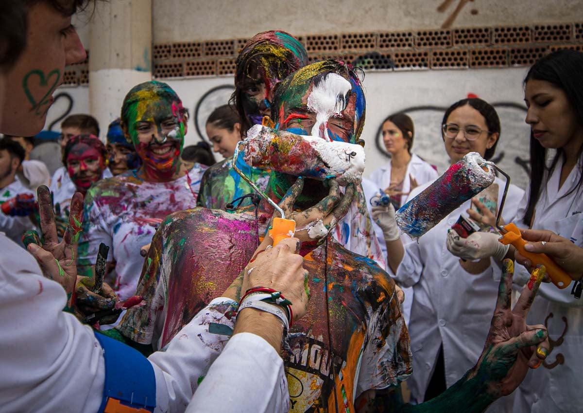
[[[97,2],[89,31],[89,110],[104,139],[129,89],[152,79],[152,0]]]

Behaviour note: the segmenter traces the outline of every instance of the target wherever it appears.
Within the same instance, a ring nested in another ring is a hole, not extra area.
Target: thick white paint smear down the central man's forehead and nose
[[[314,84],[307,101],[308,108],[316,114],[312,133],[317,133],[323,126],[326,141],[332,140],[328,136],[328,119],[340,115],[346,108],[346,95],[351,89],[350,82],[335,73],[326,75],[321,82]]]

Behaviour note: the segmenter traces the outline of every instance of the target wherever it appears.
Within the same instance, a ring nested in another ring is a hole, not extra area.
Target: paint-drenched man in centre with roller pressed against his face
[[[329,100],[322,101],[338,107],[337,111],[322,108],[335,113],[322,119],[306,102],[314,89],[325,93],[329,83],[346,86],[346,92],[326,95]],[[272,117],[280,129],[357,142],[364,121],[360,81],[342,61],[309,65],[280,84]],[[319,122],[324,127],[314,128]],[[354,185],[347,185],[342,194],[335,179],[322,182],[272,171],[268,191],[274,201],[281,201],[286,218],[296,220],[296,236],[303,241],[301,254],[310,274],[307,317],[291,326],[283,352],[291,411],[392,411],[401,404],[399,383],[411,373],[409,337],[398,292],[374,261],[346,250],[331,234],[350,204],[357,202]],[[134,344],[163,348],[181,325],[238,274],[231,288],[240,290],[241,270],[259,244],[259,234],[269,225],[272,211],[262,201],[257,212],[252,207],[241,213],[196,208],[169,216],[152,240],[138,287],[147,306],[128,310],[117,331]],[[322,231],[314,238],[308,229],[315,225]],[[525,331],[521,314],[510,314],[510,280],[505,274],[501,284],[505,298],[497,311],[509,320],[518,317],[516,323],[511,322],[513,327],[506,330],[495,320],[475,368],[438,400],[407,411],[451,410],[454,404],[458,411],[482,411],[522,380],[533,355],[531,346],[543,341],[545,332],[539,327]],[[532,299],[532,290],[526,289],[522,300],[526,296]],[[225,314],[236,308],[234,300],[224,308]],[[220,348],[225,340],[217,332],[205,345]]]

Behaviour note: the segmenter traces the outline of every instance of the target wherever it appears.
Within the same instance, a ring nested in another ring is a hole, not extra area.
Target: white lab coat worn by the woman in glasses
[[[505,181],[496,178],[499,186],[498,206]],[[409,195],[415,197],[431,183],[420,185]],[[505,222],[514,219],[524,191],[510,185],[504,205]],[[461,267],[459,258],[446,247],[447,231],[459,215],[470,207],[466,201],[417,240],[403,235],[405,256],[396,279],[413,286],[413,305],[409,323],[413,375],[407,380],[413,403],[421,403],[440,345],[443,344],[447,387],[457,382],[475,365],[482,349],[496,306],[501,269],[492,265],[480,274],[470,274]],[[491,260],[491,259],[490,259]],[[505,405],[501,407],[500,404]],[[503,398],[489,412],[511,411],[512,401]]]

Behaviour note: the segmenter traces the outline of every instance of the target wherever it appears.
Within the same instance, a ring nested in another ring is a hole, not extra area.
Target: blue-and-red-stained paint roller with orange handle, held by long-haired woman
[[[442,176],[422,191],[415,198],[403,205],[395,214],[395,220],[403,232],[411,237],[420,237],[437,225],[451,211],[463,202],[479,194],[494,182],[494,169],[506,177],[504,195],[496,219],[496,227],[504,245],[512,244],[532,265],[545,265],[554,285],[566,288],[571,278],[559,265],[546,254],[529,253],[524,249],[526,241],[522,239],[520,230],[514,223],[500,226],[504,203],[510,186],[510,176],[493,162],[488,162],[476,152],[470,152],[459,162],[452,164]]]

